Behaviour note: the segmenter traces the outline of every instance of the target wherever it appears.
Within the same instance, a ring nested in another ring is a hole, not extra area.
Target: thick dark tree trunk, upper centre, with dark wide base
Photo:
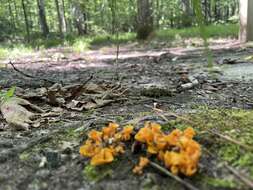
[[[149,0],[137,0],[138,28],[137,39],[146,40],[153,32],[152,9]]]

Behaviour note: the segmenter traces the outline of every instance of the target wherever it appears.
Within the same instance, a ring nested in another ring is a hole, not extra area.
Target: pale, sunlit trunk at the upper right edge
[[[241,42],[253,41],[253,1],[240,0],[240,34]]]

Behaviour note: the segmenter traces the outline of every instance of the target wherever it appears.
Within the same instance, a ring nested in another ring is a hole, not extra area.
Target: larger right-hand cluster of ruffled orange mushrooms
[[[147,152],[156,155],[173,174],[192,176],[197,171],[201,155],[200,145],[193,140],[194,135],[195,131],[190,127],[165,134],[159,124],[146,123],[135,135],[135,140],[145,143]]]

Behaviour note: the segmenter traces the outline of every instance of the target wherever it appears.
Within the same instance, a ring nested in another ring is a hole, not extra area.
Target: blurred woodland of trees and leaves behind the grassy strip
[[[206,24],[238,23],[237,0],[202,0]],[[1,0],[0,40],[109,35],[196,26],[190,0]],[[143,27],[146,27],[143,29]]]

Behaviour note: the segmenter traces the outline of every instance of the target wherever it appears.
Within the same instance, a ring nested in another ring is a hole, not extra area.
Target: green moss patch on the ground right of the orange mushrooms
[[[204,108],[187,118],[196,123],[194,128],[199,131],[205,132],[207,129],[212,129],[241,144],[253,147],[253,111]],[[247,175],[253,177],[253,152],[251,150],[210,133],[207,133],[202,141],[211,142],[206,148],[217,155],[220,160],[226,161],[239,171],[246,171]]]

